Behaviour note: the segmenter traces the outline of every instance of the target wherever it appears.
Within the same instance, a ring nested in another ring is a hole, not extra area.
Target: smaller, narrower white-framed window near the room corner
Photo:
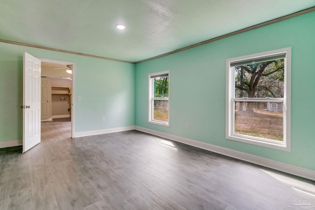
[[[149,74],[149,122],[169,126],[169,71]]]

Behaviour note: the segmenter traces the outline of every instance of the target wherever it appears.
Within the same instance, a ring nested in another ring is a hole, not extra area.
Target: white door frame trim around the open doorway
[[[38,58],[38,57],[36,57]],[[50,62],[50,63],[55,63],[57,64],[65,64],[65,65],[72,65],[72,90],[71,90],[71,138],[75,137],[75,100],[74,100],[74,95],[75,95],[75,63],[74,62],[69,62],[69,61],[63,61],[63,60],[53,60],[53,59],[45,59],[45,58],[38,58],[42,62]]]

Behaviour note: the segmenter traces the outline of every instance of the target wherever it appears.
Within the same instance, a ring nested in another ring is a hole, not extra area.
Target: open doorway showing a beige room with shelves
[[[53,136],[69,135],[68,137],[74,138],[75,63],[39,59],[41,60],[41,80],[42,82],[44,80],[41,86],[43,93],[41,103],[43,140],[51,134]]]

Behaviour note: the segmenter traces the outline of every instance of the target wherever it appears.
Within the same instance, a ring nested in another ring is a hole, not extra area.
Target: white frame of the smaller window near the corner
[[[159,75],[168,75],[168,98],[157,98],[157,97],[153,97],[154,94],[154,83],[153,83],[153,78],[154,76],[159,76]],[[169,127],[170,126],[170,70],[167,71],[161,71],[161,72],[157,72],[157,73],[151,73],[148,74],[148,85],[149,85],[149,97],[148,97],[148,122],[152,123],[152,124],[157,124],[157,125],[162,125],[162,126],[166,126]],[[163,101],[168,101],[168,121],[161,121],[161,120],[154,120],[153,119],[153,115],[154,115],[154,101],[155,100],[163,100]]]

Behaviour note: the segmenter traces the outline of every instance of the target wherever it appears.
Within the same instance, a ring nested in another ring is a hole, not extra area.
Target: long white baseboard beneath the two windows
[[[229,157],[234,157],[236,159],[244,160],[244,161],[247,161],[250,163],[265,166],[268,168],[272,168],[272,169],[282,171],[285,173],[289,173],[292,175],[296,175],[299,177],[304,177],[304,178],[307,178],[310,180],[315,180],[315,170],[312,170],[312,169],[303,168],[300,166],[291,165],[288,163],[284,163],[284,162],[280,162],[280,161],[276,161],[276,160],[271,160],[268,158],[259,157],[259,156],[255,156],[252,154],[248,154],[248,153],[244,153],[244,152],[240,152],[240,151],[236,151],[236,150],[230,150],[227,148],[223,148],[223,147],[219,147],[219,146],[215,146],[215,145],[211,145],[211,144],[207,144],[207,143],[198,142],[195,140],[158,132],[158,131],[147,129],[144,127],[135,126],[135,129],[142,131],[142,132],[145,132],[145,133],[160,136],[160,137],[163,137],[166,139],[174,140],[174,141],[177,141],[177,142],[180,142],[183,144],[187,144],[187,145],[190,145],[193,147],[213,151],[213,152],[216,152],[219,154],[223,154],[223,155],[226,155]]]

